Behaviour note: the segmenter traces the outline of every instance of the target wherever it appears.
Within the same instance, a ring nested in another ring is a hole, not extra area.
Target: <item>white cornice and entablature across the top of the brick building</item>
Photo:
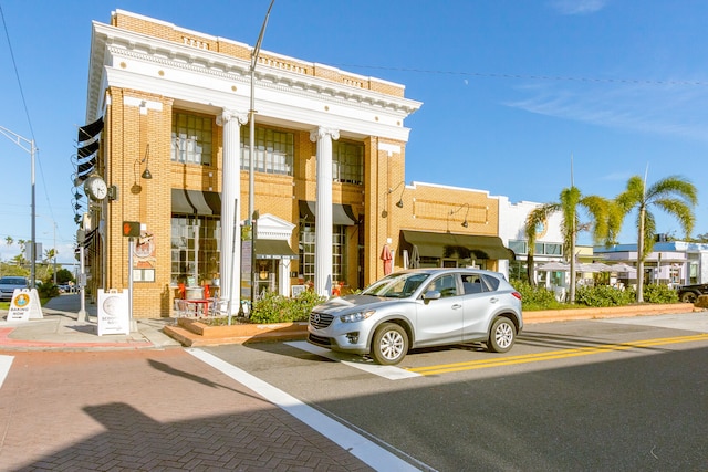
[[[121,62],[126,70],[121,70]],[[94,22],[86,119],[98,114],[106,85],[216,107],[248,106],[249,66],[244,60]],[[334,123],[353,134],[407,140],[403,120],[420,107],[412,99],[262,64],[254,75],[261,118]]]

